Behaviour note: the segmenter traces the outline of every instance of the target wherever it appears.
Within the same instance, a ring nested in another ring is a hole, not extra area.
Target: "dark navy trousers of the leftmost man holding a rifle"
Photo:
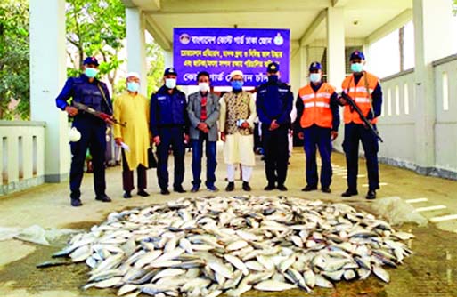
[[[94,191],[96,196],[105,194],[105,149],[106,149],[106,124],[91,119],[79,119],[73,126],[81,133],[78,142],[71,142],[71,168],[69,170],[69,189],[72,198],[81,196],[81,181],[83,181],[86,151],[92,156],[94,170]]]

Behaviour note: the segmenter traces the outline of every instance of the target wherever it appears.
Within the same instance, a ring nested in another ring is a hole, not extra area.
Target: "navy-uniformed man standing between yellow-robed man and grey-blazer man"
[[[175,157],[175,181],[173,189],[185,193],[184,140],[189,141],[187,103],[184,92],[176,88],[177,73],[174,68],[165,69],[164,85],[151,96],[151,132],[157,146],[157,177],[160,193],[168,195],[168,149]]]

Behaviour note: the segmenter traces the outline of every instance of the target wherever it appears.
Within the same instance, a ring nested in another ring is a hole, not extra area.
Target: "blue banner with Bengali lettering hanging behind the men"
[[[175,28],[173,64],[177,84],[197,84],[208,71],[214,86],[230,85],[233,70],[244,74],[245,86],[265,83],[266,66],[280,65],[282,82],[289,82],[290,30],[245,28]]]

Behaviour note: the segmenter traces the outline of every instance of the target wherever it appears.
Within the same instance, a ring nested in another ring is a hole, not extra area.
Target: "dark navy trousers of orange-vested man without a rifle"
[[[329,188],[331,185],[331,129],[317,125],[303,129],[303,145],[306,153],[306,183],[317,187],[317,162],[316,151],[321,155],[321,186]]]

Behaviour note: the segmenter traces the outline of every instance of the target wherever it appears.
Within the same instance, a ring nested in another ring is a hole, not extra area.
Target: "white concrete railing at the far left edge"
[[[45,123],[0,121],[0,196],[45,181]]]

